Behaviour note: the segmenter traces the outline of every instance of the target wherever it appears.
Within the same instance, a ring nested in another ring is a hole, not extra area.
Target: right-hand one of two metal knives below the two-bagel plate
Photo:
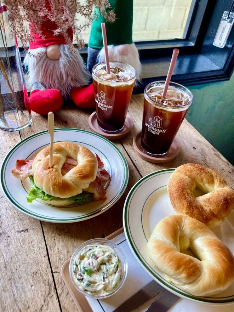
[[[164,290],[158,298],[149,306],[146,312],[166,312],[169,310],[180,297],[174,295],[174,293]]]

